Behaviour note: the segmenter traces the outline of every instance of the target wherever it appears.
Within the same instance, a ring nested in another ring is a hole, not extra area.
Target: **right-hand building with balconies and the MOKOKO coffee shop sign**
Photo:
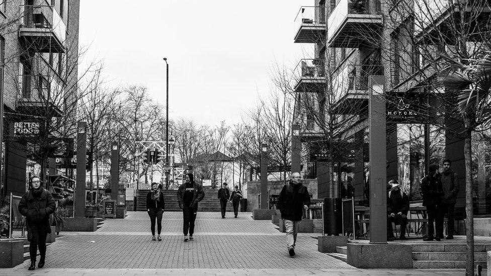
[[[456,208],[463,215],[464,124],[438,75],[449,58],[469,60],[486,47],[486,7],[486,1],[316,0],[300,8],[294,42],[314,47],[293,72],[294,140],[301,147],[292,145],[298,156],[292,160],[315,168],[319,197],[368,200],[369,82],[383,76],[387,180],[398,179],[412,204],[421,204],[429,164],[448,158],[459,175]],[[489,134],[472,133],[474,214],[482,217],[491,216]]]

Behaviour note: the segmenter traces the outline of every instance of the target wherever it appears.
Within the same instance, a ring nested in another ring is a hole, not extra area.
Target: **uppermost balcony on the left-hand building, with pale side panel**
[[[19,37],[38,53],[64,53],[66,25],[53,6],[21,6],[23,23]]]

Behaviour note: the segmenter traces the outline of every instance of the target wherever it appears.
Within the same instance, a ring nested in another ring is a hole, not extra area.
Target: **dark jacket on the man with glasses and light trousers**
[[[310,206],[307,187],[303,186],[302,183],[294,184],[292,181],[283,186],[278,197],[278,208],[282,219],[302,220],[304,205]]]

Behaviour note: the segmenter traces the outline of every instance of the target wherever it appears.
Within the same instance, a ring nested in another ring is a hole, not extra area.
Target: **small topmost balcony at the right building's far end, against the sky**
[[[325,7],[302,6],[295,17],[295,43],[324,43]]]

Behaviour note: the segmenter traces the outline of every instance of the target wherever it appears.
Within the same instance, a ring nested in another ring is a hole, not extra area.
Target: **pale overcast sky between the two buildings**
[[[80,1],[79,44],[104,59],[112,86],[142,84],[170,118],[241,121],[266,94],[277,61],[295,66],[309,44],[293,43],[294,19],[313,0]]]

